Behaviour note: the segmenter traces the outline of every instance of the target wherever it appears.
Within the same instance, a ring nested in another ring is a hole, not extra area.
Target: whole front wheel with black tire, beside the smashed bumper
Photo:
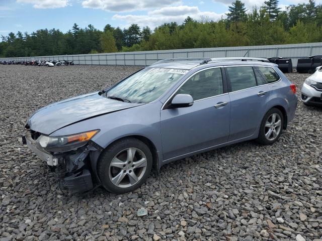
[[[141,186],[151,168],[152,154],[149,148],[136,138],[126,138],[103,151],[97,172],[106,190],[121,194]]]

